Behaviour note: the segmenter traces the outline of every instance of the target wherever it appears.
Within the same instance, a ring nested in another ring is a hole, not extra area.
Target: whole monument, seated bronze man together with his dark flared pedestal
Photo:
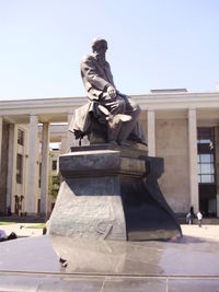
[[[60,156],[64,182],[49,234],[94,241],[181,236],[181,226],[158,184],[163,159],[150,157],[146,147],[136,147],[143,142],[137,131],[140,107],[117,91],[105,60],[106,40],[95,39],[92,49],[81,63],[89,103],[76,109],[69,130],[79,139],[89,135],[91,144],[113,147],[72,147],[71,153]]]

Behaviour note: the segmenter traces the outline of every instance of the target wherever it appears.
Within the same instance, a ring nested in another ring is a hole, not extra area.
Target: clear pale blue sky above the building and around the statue
[[[84,96],[94,37],[126,94],[219,83],[218,0],[0,0],[0,100]]]

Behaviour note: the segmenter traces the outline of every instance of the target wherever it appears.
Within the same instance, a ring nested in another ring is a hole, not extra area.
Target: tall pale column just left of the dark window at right
[[[189,190],[191,206],[194,211],[199,209],[198,200],[198,165],[197,165],[197,122],[196,109],[188,108],[188,152],[189,152]]]

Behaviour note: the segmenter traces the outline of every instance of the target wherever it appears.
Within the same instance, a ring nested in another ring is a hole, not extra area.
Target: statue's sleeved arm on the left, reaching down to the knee
[[[101,75],[92,59],[82,60],[81,71],[88,82],[97,90],[105,91],[108,86],[113,86]]]

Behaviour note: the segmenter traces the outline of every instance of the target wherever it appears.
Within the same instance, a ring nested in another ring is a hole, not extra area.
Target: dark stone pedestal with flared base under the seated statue
[[[118,241],[178,235],[154,185],[163,171],[162,159],[147,157],[146,149],[107,144],[71,151],[59,160],[64,182],[50,217],[49,234]],[[143,177],[150,182],[148,189]],[[153,187],[154,198],[149,198]],[[168,230],[163,222],[168,222]]]

